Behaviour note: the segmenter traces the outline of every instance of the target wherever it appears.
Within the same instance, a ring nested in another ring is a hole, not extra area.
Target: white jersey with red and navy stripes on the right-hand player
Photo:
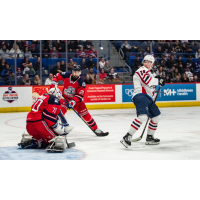
[[[146,67],[140,67],[133,76],[134,92],[132,98],[137,94],[145,94],[154,99],[156,85],[158,85],[158,78],[154,78]]]

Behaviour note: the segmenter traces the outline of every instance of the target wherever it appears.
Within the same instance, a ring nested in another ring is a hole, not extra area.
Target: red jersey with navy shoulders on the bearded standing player
[[[83,100],[86,84],[81,77],[79,77],[76,81],[73,81],[71,73],[57,73],[53,78],[50,88],[55,87],[55,82],[58,82],[60,80],[64,81],[62,94],[66,100],[69,101],[73,99],[76,102],[81,102]]]

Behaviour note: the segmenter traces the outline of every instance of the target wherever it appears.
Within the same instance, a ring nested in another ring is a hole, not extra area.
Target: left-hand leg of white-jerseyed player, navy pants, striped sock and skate
[[[131,123],[127,134],[120,141],[126,148],[131,146],[132,136],[139,130],[140,126],[145,123],[149,116],[150,101],[144,94],[138,94],[133,98],[135,104],[137,117]]]

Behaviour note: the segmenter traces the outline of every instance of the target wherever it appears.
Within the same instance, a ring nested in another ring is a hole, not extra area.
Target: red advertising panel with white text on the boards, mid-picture
[[[84,101],[93,102],[115,102],[115,85],[87,85]]]

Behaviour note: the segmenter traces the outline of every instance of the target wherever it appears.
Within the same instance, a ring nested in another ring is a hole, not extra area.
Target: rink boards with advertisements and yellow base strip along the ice
[[[60,89],[63,86],[59,86]],[[27,112],[49,86],[0,87],[0,112]],[[132,84],[87,85],[84,101],[88,109],[135,108]],[[200,106],[200,84],[166,84],[158,95],[159,107]]]

